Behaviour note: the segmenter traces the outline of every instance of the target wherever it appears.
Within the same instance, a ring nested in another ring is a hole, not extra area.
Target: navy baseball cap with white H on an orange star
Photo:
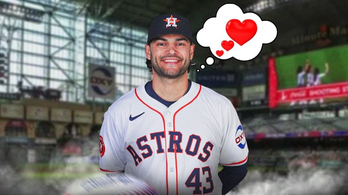
[[[148,44],[160,35],[179,34],[187,37],[193,43],[191,23],[188,19],[177,14],[164,14],[151,20]]]

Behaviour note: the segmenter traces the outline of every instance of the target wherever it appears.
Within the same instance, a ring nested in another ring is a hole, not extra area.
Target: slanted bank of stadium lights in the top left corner
[[[0,14],[41,23],[45,12],[27,6],[0,1]]]

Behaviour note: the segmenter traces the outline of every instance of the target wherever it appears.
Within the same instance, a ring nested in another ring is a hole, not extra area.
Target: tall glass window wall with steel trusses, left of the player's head
[[[0,91],[15,92],[20,82],[60,89],[64,100],[86,102],[88,64],[119,65],[116,84],[123,93],[149,80],[145,63],[138,63],[145,62],[145,31],[121,21],[111,24],[104,20],[108,13],[96,17],[87,9],[65,0],[0,1],[0,33],[6,35],[0,45],[8,59]]]

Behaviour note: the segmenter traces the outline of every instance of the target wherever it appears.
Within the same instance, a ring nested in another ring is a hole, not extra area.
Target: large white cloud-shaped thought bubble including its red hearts
[[[271,43],[276,36],[272,22],[262,21],[253,12],[243,13],[238,5],[228,3],[219,8],[216,17],[205,21],[196,39],[218,59],[248,61],[260,54],[262,44]]]

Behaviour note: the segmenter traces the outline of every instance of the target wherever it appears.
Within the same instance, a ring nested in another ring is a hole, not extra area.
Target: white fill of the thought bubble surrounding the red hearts
[[[252,19],[256,22],[258,30],[254,37],[240,46],[235,40],[226,32],[226,24],[231,19],[238,19],[243,22],[246,19]],[[211,26],[214,29],[214,34],[210,30]],[[222,29],[224,27],[224,29]],[[216,30],[219,29],[219,30]],[[272,33],[269,35],[269,33]],[[218,59],[228,60],[234,58],[239,61],[250,61],[255,59],[262,50],[263,44],[272,43],[278,36],[277,27],[269,20],[262,20],[255,12],[243,12],[243,10],[234,3],[224,3],[216,11],[215,16],[209,17],[205,20],[196,35],[197,43],[202,47],[208,47],[210,53]],[[208,38],[207,38],[208,37]],[[222,41],[233,41],[234,46],[231,50],[226,51],[222,48]],[[203,41],[203,42],[202,42]],[[215,52],[223,51],[224,54],[219,57]]]

